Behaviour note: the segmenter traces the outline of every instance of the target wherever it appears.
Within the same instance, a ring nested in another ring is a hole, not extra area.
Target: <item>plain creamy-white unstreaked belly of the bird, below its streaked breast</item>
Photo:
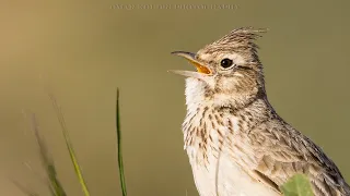
[[[188,148],[188,154],[192,154]],[[196,186],[201,196],[279,196],[244,171],[231,156],[222,152],[220,159],[209,155],[208,167],[190,159]],[[219,170],[218,170],[219,169]]]

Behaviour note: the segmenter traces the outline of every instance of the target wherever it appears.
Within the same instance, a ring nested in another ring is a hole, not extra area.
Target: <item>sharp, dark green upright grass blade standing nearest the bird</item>
[[[121,131],[120,131],[120,113],[119,113],[119,89],[117,88],[116,100],[116,130],[117,130],[117,146],[118,146],[118,168],[122,196],[127,196],[127,186],[124,175],[122,151],[121,151]]]

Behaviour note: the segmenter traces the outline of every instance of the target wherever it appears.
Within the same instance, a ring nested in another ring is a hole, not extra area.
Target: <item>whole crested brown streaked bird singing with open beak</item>
[[[197,53],[175,51],[197,72],[186,76],[185,150],[200,196],[280,196],[280,186],[305,174],[315,196],[350,195],[337,166],[268,101],[255,39],[243,27]]]

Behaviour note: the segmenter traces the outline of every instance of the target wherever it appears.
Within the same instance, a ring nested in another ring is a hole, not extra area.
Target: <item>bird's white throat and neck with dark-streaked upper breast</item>
[[[275,115],[265,96],[252,96],[244,101],[224,95],[206,96],[206,85],[191,82],[186,85],[187,115],[183,131],[185,148],[194,154],[192,157],[206,155],[205,149],[219,147],[228,134],[249,132]]]

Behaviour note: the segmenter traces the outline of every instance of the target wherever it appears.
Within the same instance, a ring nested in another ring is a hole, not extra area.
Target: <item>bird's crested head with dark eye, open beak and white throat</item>
[[[265,93],[262,65],[254,42],[264,32],[238,28],[197,53],[172,52],[197,68],[197,72],[172,71],[187,77],[187,105],[212,101],[218,107],[240,107]]]

